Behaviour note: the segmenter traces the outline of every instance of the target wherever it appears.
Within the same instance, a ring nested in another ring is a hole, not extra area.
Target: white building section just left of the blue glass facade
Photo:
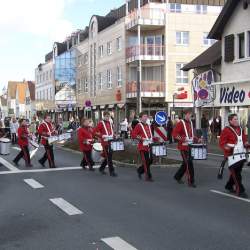
[[[55,82],[53,52],[45,56],[45,62],[35,69],[36,110],[39,113],[55,110]]]

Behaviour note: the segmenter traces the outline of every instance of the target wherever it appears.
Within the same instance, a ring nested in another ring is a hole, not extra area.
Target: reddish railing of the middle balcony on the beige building
[[[162,57],[165,55],[165,47],[157,44],[142,44],[126,48],[126,58],[149,56],[149,57]],[[155,58],[157,59],[157,58]]]

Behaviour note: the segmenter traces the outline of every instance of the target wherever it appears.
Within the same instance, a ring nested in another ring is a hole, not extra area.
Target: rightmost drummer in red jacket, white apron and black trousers
[[[239,126],[237,114],[230,114],[228,116],[229,126],[225,127],[220,135],[219,145],[224,151],[224,157],[233,154],[234,147],[238,144],[238,137],[243,142],[242,147],[249,147],[247,142],[247,136],[244,130]],[[236,193],[238,196],[247,197],[245,188],[242,184],[242,168],[244,166],[244,160],[235,163],[229,167],[230,177],[225,186],[225,189],[231,193]]]

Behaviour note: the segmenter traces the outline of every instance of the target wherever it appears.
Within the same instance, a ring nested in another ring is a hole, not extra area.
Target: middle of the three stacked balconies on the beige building
[[[165,59],[165,46],[157,44],[134,45],[126,48],[127,63],[137,60],[162,61]]]

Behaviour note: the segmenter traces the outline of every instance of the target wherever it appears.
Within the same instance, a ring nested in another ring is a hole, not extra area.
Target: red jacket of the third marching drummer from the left
[[[91,151],[93,143],[92,129],[88,127],[83,127],[78,129],[78,142],[81,151]],[[89,143],[87,143],[89,140]],[[91,141],[90,141],[91,140]]]

